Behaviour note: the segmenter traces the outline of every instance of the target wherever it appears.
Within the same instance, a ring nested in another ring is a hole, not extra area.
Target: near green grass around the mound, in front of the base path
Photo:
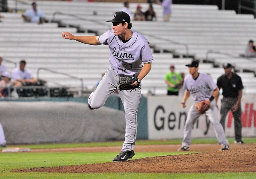
[[[189,153],[184,152],[182,154]],[[137,152],[133,159],[154,157],[162,155],[176,155],[178,152]],[[246,179],[255,178],[256,173],[14,173],[11,169],[23,169],[31,167],[52,167],[60,165],[79,165],[85,163],[110,162],[116,153],[0,153],[0,178],[32,179],[32,178],[222,178],[222,179]]]

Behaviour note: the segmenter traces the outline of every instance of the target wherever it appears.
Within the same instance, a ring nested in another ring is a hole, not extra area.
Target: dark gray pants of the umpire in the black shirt
[[[228,111],[236,104],[237,97],[223,97],[221,100],[220,108],[220,123],[225,131],[225,119]],[[242,140],[242,124],[241,124],[241,104],[239,104],[238,109],[233,113],[234,117],[234,127],[235,127],[235,140]]]

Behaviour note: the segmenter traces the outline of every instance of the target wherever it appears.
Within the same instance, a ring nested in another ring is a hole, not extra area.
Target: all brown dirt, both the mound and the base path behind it
[[[179,145],[140,145],[136,152],[176,151]],[[228,151],[218,151],[219,145],[192,145],[191,151],[202,153],[148,157],[126,162],[109,162],[59,167],[17,169],[15,172],[57,173],[212,173],[212,172],[256,172],[256,144],[231,145]],[[32,152],[99,152],[120,151],[120,147],[83,147],[72,149],[44,149]]]

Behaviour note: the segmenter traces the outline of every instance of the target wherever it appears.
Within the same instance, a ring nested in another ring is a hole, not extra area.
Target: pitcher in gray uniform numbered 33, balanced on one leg
[[[112,30],[100,36],[74,36],[63,32],[62,37],[84,44],[108,45],[110,66],[96,90],[90,94],[88,106],[90,109],[102,107],[106,99],[118,89],[124,105],[126,128],[122,150],[113,161],[126,161],[135,155],[133,149],[137,133],[137,111],[141,86],[134,90],[119,90],[119,80],[121,77],[133,76],[137,78],[132,85],[140,84],[140,81],[151,70],[153,56],[148,40],[138,32],[131,30],[132,24],[127,13],[116,12],[112,20],[107,22],[113,23]]]

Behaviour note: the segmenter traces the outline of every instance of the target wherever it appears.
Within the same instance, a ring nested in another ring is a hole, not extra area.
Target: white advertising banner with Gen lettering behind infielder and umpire
[[[256,136],[256,95],[242,97],[242,136]],[[222,96],[220,95],[220,99]],[[183,129],[188,110],[193,105],[192,97],[186,101],[186,107],[180,105],[180,96],[148,97],[148,139],[174,139],[183,137]],[[220,100],[218,101],[220,107]],[[220,113],[218,113],[220,119]],[[234,119],[230,112],[226,117],[226,136],[234,136]],[[212,124],[206,115],[201,115],[194,123],[192,137],[215,137]]]

